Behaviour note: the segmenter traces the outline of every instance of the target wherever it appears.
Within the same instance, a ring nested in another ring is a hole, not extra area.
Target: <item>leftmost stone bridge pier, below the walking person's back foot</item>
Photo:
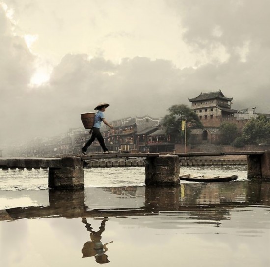
[[[49,167],[48,186],[53,189],[83,188],[83,161],[79,157],[61,158],[57,167]]]

